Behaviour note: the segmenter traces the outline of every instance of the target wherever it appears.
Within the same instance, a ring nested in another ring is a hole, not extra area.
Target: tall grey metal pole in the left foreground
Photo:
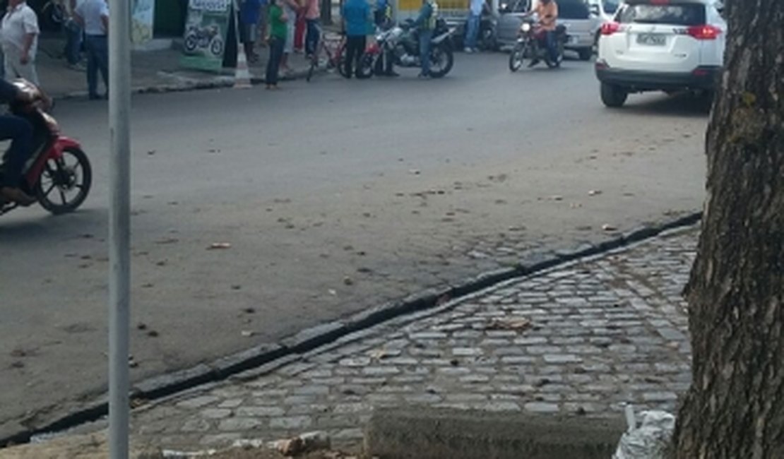
[[[128,459],[130,2],[109,0],[109,457]]]

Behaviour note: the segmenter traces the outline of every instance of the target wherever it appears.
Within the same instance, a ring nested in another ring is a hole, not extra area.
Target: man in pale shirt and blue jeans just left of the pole
[[[109,5],[106,0],[83,0],[74,11],[74,17],[85,29],[87,51],[87,92],[91,100],[103,99],[98,95],[98,71],[103,85],[109,92]]]

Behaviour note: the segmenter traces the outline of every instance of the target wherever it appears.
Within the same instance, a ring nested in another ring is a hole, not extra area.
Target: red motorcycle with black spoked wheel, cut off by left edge
[[[34,100],[32,103],[14,102],[10,105],[12,114],[24,117],[33,126],[34,153],[24,165],[20,188],[55,215],[74,211],[85,201],[93,183],[90,161],[77,141],[60,135],[57,121],[43,108],[38,88],[24,80],[13,84]],[[16,207],[16,202],[4,201],[0,197],[0,215]]]

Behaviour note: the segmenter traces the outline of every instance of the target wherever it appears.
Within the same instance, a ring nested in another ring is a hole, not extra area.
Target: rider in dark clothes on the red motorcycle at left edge
[[[15,101],[32,102],[27,92],[0,80],[0,103]],[[0,140],[11,139],[11,146],[3,157],[2,187],[0,197],[20,205],[30,205],[35,198],[20,189],[24,163],[33,153],[33,126],[30,121],[13,114],[0,115]]]

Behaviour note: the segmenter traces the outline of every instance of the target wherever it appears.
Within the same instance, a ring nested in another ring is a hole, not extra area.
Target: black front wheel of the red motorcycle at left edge
[[[87,155],[78,148],[67,147],[63,157],[46,161],[34,193],[42,208],[60,215],[82,205],[92,185],[93,169]],[[52,197],[55,191],[59,200]]]

